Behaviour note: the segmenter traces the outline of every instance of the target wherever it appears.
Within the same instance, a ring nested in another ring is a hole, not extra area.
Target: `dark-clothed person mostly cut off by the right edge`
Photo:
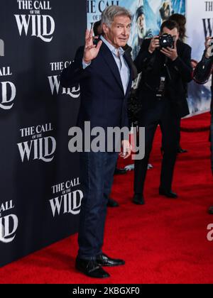
[[[202,60],[195,67],[195,72],[193,78],[197,83],[205,84],[212,74],[213,70],[213,53],[212,53],[213,38],[207,38],[205,43],[204,55]],[[213,99],[213,75],[212,75],[212,99]],[[213,100],[211,102],[211,130],[210,130],[210,140],[211,140],[211,152],[212,152],[212,174],[213,174]],[[209,214],[213,214],[213,206],[209,208]]]

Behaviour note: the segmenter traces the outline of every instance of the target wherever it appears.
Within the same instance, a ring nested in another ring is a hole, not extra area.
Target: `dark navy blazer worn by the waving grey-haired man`
[[[121,82],[119,69],[111,51],[102,43],[97,57],[85,70],[82,68],[84,47],[80,47],[75,61],[62,71],[62,87],[74,87],[80,84],[81,104],[77,125],[84,127],[84,121],[90,121],[91,127],[129,126],[127,117],[127,98],[132,84],[131,62],[124,54],[130,68],[129,86],[126,94]]]

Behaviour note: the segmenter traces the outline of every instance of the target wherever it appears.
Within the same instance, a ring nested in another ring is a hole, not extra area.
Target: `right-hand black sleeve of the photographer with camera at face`
[[[186,83],[192,81],[192,65],[191,65],[192,48],[185,46],[182,56],[171,63],[175,70],[180,74],[182,80]]]

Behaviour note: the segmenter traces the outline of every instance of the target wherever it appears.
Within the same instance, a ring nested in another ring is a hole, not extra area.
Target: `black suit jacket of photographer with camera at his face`
[[[153,54],[148,52],[150,43],[151,39],[143,40],[141,50],[134,61],[138,73],[142,72],[138,96],[142,101],[143,110],[155,106],[161,67],[165,62],[165,55],[159,50],[155,50]],[[181,118],[190,113],[187,105],[187,83],[192,80],[191,48],[178,40],[177,50],[178,58],[175,61],[167,60],[170,76],[166,75],[165,96],[171,101],[177,116]]]

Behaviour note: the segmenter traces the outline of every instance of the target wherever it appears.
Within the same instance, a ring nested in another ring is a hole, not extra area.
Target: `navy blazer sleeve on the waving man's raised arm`
[[[74,62],[60,74],[60,83],[62,87],[75,87],[80,80],[87,76],[87,71],[83,69],[82,59],[84,55],[84,47],[80,47],[75,55]],[[88,66],[89,67],[89,66]]]

